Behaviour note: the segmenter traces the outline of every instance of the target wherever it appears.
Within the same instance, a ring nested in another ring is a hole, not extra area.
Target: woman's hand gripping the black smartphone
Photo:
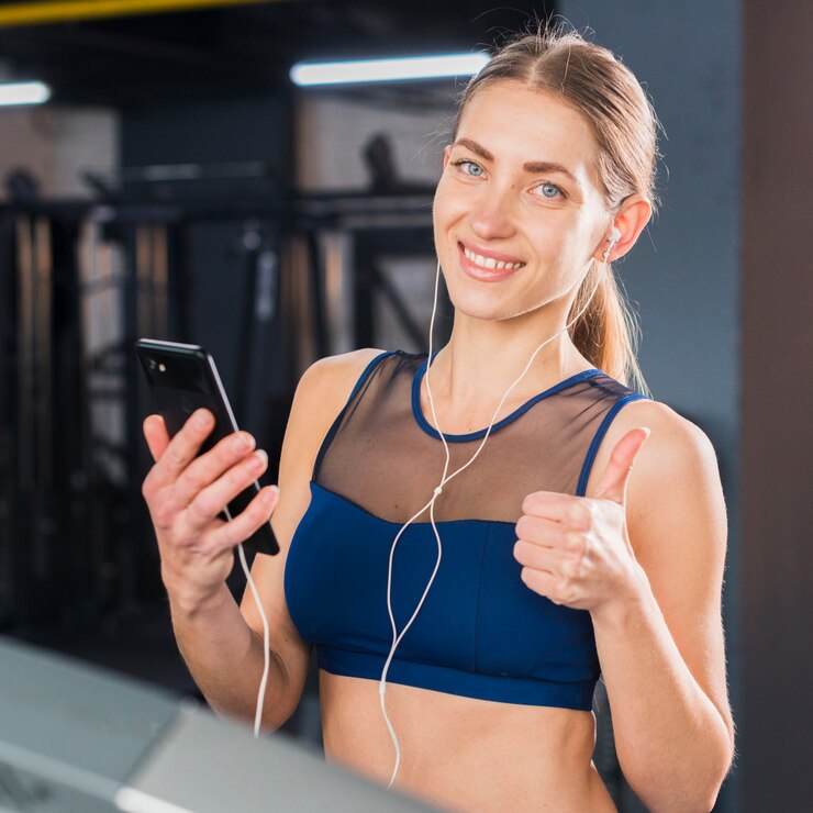
[[[158,538],[162,578],[170,600],[190,612],[220,592],[234,566],[233,548],[269,521],[278,501],[278,490],[266,487],[231,522],[219,519],[266,469],[268,457],[254,452],[247,432],[196,457],[213,427],[212,413],[197,410],[170,441],[159,415],[144,421],[155,465],[142,493]]]

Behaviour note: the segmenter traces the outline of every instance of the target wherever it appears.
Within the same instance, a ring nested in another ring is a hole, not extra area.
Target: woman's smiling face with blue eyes
[[[520,81],[466,107],[435,193],[435,246],[455,308],[510,319],[575,289],[611,227],[588,122]]]

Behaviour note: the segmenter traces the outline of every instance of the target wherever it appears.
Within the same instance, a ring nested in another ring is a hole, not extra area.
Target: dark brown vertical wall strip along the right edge
[[[744,3],[744,811],[810,810],[813,3]]]

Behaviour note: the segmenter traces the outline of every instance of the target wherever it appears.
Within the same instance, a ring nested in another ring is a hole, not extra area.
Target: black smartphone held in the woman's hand
[[[214,366],[214,359],[199,345],[140,338],[135,352],[147,378],[153,394],[155,411],[164,419],[171,437],[187,422],[194,410],[205,406],[214,414],[215,425],[201,445],[199,455],[209,452],[219,441],[237,431],[232,408]],[[221,516],[236,516],[254,499],[260,489],[254,483],[235,497]],[[243,546],[260,554],[275,555],[279,545],[265,523]]]

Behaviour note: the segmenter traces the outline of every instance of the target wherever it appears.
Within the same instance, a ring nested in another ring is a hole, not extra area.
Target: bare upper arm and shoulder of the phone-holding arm
[[[288,613],[283,589],[288,550],[310,504],[311,474],[322,441],[349,398],[358,376],[379,353],[361,349],[323,358],[309,367],[300,379],[282,441],[277,483],[279,502],[271,516],[279,554],[258,554],[252,566],[252,578],[268,619],[271,649],[279,655],[289,680],[297,687],[297,700],[308,675],[310,646],[301,638]],[[246,623],[261,635],[263,622],[247,589],[241,612]]]

